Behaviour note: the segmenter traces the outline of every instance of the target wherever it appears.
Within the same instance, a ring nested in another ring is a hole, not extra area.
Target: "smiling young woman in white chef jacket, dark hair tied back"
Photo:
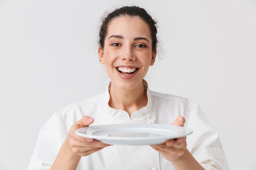
[[[41,128],[29,170],[228,170],[218,134],[198,104],[150,91],[144,77],[157,55],[156,22],[139,7],[108,14],[99,31],[105,93],[59,110]],[[185,121],[186,120],[186,121]],[[108,145],[75,130],[103,124],[173,124],[188,137],[153,146]]]

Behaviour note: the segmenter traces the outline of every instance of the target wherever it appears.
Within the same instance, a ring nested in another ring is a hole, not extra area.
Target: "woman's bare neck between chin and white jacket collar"
[[[109,93],[109,106],[124,110],[130,116],[133,112],[145,107],[148,103],[146,89],[142,82],[132,90],[122,90],[111,86]]]

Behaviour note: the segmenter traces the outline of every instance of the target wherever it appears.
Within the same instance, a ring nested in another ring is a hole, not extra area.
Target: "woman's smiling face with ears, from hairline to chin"
[[[104,49],[99,47],[99,60],[105,64],[111,87],[123,90],[132,90],[142,83],[155,56],[148,24],[139,17],[113,19],[108,25]]]

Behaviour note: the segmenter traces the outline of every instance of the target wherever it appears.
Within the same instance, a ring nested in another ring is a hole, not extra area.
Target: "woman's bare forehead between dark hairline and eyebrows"
[[[151,35],[148,24],[138,16],[122,15],[112,19],[107,27],[107,35],[109,34],[132,34],[132,35]]]

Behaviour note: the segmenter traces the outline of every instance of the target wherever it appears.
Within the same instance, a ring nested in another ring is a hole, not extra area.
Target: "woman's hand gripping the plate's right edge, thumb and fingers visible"
[[[178,116],[172,125],[184,126],[185,119],[182,116]],[[161,153],[162,156],[168,161],[177,160],[184,154],[186,150],[186,137],[177,139],[171,139],[166,141],[164,144],[151,145],[153,149]]]

